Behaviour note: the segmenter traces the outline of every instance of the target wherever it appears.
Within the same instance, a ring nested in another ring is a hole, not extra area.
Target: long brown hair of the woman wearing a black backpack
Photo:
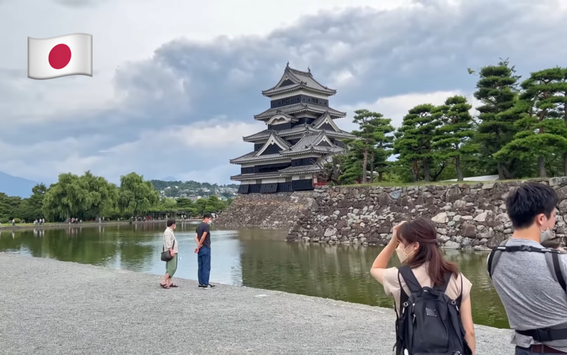
[[[427,263],[427,273],[434,285],[443,285],[447,272],[458,277],[457,265],[454,262],[445,261],[441,255],[441,250],[438,248],[437,231],[429,219],[417,218],[412,222],[402,224],[399,238],[405,247],[412,243],[419,243],[420,247],[408,265],[413,269]]]

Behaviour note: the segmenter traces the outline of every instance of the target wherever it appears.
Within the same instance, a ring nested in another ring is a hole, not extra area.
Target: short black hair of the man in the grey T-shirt
[[[506,199],[506,208],[514,228],[521,229],[530,227],[539,214],[550,218],[558,202],[557,193],[552,187],[528,182],[510,194]]]

